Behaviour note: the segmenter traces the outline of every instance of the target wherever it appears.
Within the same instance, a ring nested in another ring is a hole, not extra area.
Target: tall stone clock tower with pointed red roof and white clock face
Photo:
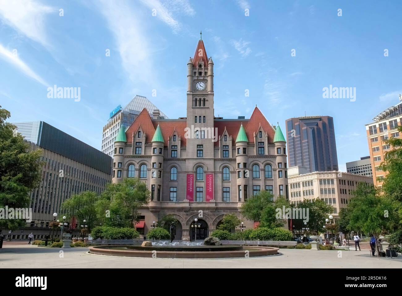
[[[194,130],[187,139],[187,157],[200,158],[197,150],[203,149],[203,158],[213,158],[213,61],[200,35],[194,58],[187,62],[187,127]]]

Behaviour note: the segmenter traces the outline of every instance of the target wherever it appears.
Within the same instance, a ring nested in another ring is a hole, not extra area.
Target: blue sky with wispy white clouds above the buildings
[[[332,116],[345,170],[369,155],[364,124],[399,102],[401,8],[396,0],[0,0],[0,105],[12,122],[43,120],[100,149],[109,112],[136,94],[169,118],[186,116],[187,61],[202,30],[215,63],[215,116],[248,118],[257,104],[283,130],[304,112]],[[80,87],[80,101],[48,98],[53,85]],[[324,99],[329,85],[356,87],[356,101]]]

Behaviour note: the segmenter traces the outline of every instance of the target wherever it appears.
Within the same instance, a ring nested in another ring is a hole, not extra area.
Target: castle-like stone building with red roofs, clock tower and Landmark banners
[[[213,66],[200,39],[187,63],[187,117],[152,119],[144,109],[115,140],[112,182],[140,178],[151,191],[141,210],[143,235],[154,221],[172,214],[180,222],[176,239],[197,239],[217,228],[248,197],[271,190],[288,196],[286,141],[256,107],[250,119],[213,113]],[[254,221],[244,220],[247,228]]]

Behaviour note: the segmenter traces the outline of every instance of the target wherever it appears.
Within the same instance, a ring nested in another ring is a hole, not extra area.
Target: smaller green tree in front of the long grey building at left
[[[93,191],[84,191],[79,194],[74,194],[70,199],[67,199],[62,204],[61,210],[65,211],[66,216],[71,218],[76,216],[79,223],[88,225],[88,232],[96,223],[95,204],[99,197]]]

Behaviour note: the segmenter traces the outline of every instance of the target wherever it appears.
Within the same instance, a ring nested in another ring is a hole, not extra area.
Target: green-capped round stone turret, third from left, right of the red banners
[[[251,177],[252,175],[250,175],[248,168],[248,139],[242,124],[236,138],[236,178],[238,202],[245,201],[245,199],[248,198],[248,192],[250,190],[249,180]]]

